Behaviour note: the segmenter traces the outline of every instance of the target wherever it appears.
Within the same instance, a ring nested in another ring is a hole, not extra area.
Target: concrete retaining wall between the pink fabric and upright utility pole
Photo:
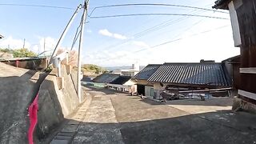
[[[62,90],[58,90],[57,70],[53,70],[42,82],[38,98],[39,110],[36,130],[38,139],[46,138],[79,105],[74,85],[76,84],[76,73],[76,71],[72,71],[72,74],[67,74],[66,67],[62,66],[62,77],[64,78]]]

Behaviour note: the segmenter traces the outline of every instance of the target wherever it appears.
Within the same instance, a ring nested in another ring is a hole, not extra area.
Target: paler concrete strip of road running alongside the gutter
[[[123,143],[111,94],[96,94],[73,143]]]

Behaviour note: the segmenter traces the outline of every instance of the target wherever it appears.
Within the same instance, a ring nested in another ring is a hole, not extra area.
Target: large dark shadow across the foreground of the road
[[[222,111],[138,122],[80,122],[73,143],[253,144],[255,120],[250,114]]]

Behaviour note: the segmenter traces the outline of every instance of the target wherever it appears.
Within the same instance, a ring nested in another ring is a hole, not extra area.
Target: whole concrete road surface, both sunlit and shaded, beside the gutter
[[[190,110],[112,90],[87,92],[93,95],[92,101],[73,143],[256,143],[253,114],[219,109],[191,114]]]

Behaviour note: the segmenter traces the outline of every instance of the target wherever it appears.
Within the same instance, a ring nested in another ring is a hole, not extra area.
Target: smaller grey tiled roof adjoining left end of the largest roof
[[[161,65],[148,65],[144,67],[138,74],[134,76],[135,79],[147,80]]]

